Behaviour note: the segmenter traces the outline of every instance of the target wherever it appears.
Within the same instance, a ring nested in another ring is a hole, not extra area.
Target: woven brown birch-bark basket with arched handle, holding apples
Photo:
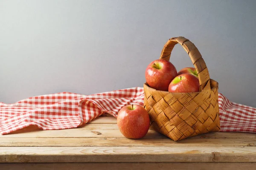
[[[198,71],[200,91],[170,93],[144,84],[144,107],[149,113],[151,126],[174,141],[220,130],[218,82],[210,79],[204,59],[195,45],[184,37],[171,38],[164,45],[160,59],[169,61],[177,43],[189,54]]]

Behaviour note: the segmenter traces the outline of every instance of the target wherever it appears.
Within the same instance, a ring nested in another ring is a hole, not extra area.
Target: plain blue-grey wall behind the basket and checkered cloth
[[[165,42],[198,47],[219,92],[256,107],[255,0],[0,0],[0,102],[143,86]],[[175,47],[177,70],[192,66]]]

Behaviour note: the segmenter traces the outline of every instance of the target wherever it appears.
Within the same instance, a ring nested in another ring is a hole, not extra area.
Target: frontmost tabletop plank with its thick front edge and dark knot
[[[256,162],[256,147],[0,147],[0,162]]]

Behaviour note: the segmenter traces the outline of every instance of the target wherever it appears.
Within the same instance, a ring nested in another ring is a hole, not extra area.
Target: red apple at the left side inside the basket
[[[161,68],[157,69],[154,65],[160,65]],[[168,87],[172,79],[177,76],[175,66],[166,60],[157,59],[151,62],[145,71],[146,82],[151,88],[160,91],[168,91]]]

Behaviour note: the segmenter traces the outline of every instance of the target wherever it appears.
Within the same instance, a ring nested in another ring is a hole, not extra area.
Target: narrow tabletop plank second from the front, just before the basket
[[[150,134],[150,133],[149,133]],[[25,146],[256,146],[256,139],[188,138],[174,142],[169,138],[1,138],[0,147]]]

